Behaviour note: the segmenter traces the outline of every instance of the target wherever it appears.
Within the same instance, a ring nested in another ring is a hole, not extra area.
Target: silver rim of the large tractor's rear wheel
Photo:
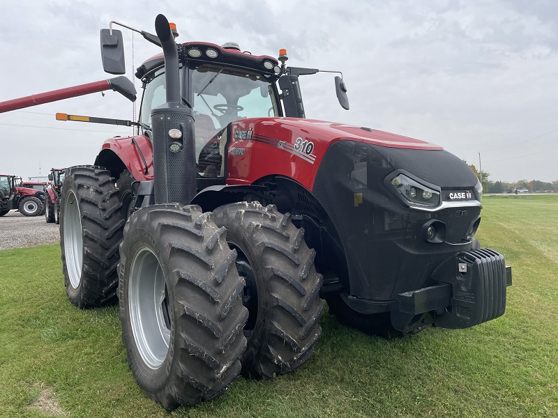
[[[73,192],[69,192],[64,205],[64,254],[66,268],[73,288],[80,286],[83,263],[82,217]]]

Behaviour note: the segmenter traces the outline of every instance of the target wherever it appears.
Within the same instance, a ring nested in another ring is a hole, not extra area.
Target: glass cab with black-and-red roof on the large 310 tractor
[[[276,87],[280,67],[271,56],[252,56],[232,42],[222,47],[207,42],[180,47],[181,98],[195,120],[197,171],[202,177],[220,177],[230,123],[283,116]],[[140,123],[150,138],[151,110],[166,101],[164,64],[158,55],[136,72],[144,87]]]

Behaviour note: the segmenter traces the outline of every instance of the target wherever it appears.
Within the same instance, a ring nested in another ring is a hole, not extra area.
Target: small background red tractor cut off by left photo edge
[[[22,183],[20,177],[0,174],[0,216],[12,209],[19,210],[25,216],[42,215],[45,192],[43,185],[40,187],[41,189],[27,187],[27,183]]]

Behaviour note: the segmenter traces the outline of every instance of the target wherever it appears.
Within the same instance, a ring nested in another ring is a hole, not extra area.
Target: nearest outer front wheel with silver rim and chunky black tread
[[[178,203],[141,208],[124,227],[122,339],[138,385],[166,410],[209,401],[240,373],[248,311],[225,235]]]

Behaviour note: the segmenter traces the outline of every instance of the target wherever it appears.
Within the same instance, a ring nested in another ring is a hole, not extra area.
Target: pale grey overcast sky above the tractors
[[[351,109],[339,106],[333,75],[304,76],[308,118],[429,141],[477,168],[480,153],[491,180],[558,180],[555,0],[2,0],[0,101],[114,77],[99,30],[116,20],[154,33],[158,13],[180,42],[286,48],[290,65],[341,70]],[[130,31],[124,42],[130,78],[160,52]],[[108,91],[0,114],[1,173],[92,164],[105,138],[131,133],[57,122],[56,112],[130,119],[133,107]]]

